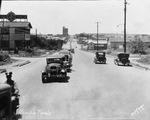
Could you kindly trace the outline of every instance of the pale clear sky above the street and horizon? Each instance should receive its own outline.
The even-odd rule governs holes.
[[[127,33],[150,34],[150,0],[127,0]],[[28,15],[32,25],[41,34],[122,33],[124,0],[96,1],[2,1],[0,14],[8,12]]]

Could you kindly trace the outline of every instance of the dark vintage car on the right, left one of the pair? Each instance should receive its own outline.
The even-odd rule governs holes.
[[[96,52],[94,57],[94,63],[104,63],[106,64],[105,52]]]

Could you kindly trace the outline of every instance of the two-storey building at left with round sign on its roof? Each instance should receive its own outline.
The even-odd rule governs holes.
[[[0,49],[25,49],[30,46],[31,23],[27,15],[9,12],[0,15]]]

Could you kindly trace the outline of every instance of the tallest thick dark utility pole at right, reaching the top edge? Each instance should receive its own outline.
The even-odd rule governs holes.
[[[124,53],[126,53],[126,11],[127,11],[127,2],[124,0]]]

